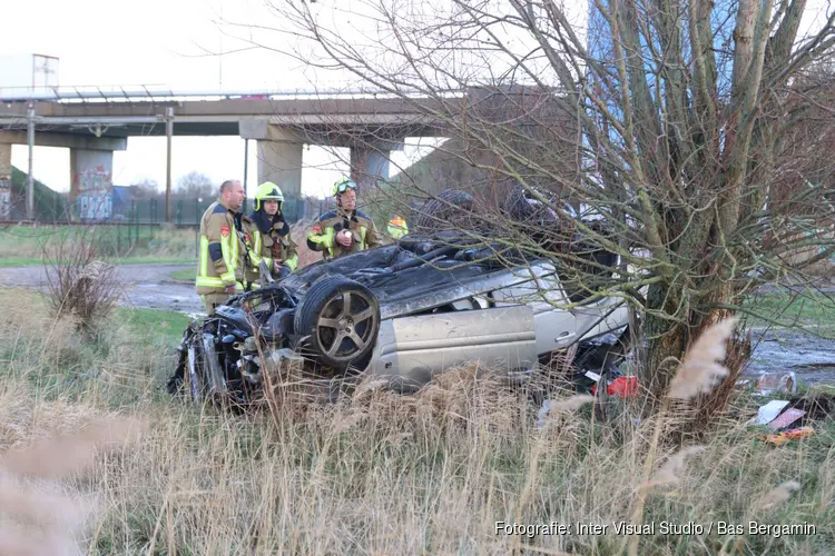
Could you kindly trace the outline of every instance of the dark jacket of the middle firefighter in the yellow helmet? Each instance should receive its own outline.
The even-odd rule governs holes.
[[[263,211],[255,211],[248,217],[242,218],[244,241],[248,251],[249,260],[244,260],[245,287],[250,289],[261,286],[261,270],[258,265],[263,260],[272,270],[273,261],[286,265],[291,271],[298,267],[298,254],[296,244],[289,236],[289,225],[277,215],[271,218]]]

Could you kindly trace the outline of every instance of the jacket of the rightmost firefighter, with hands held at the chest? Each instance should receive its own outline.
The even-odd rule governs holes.
[[[350,229],[354,241],[345,249],[336,241],[336,234]],[[342,209],[328,210],[314,222],[307,235],[307,247],[314,251],[323,251],[325,258],[335,259],[343,255],[373,249],[383,245],[380,240],[374,221],[364,212],[354,210],[348,214]]]

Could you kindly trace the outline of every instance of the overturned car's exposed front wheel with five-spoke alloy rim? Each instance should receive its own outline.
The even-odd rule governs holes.
[[[305,294],[293,326],[310,337],[310,348],[323,365],[346,369],[374,348],[380,304],[362,284],[341,276],[323,278]]]

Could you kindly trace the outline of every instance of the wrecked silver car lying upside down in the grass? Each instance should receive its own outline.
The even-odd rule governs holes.
[[[464,361],[519,383],[574,345],[577,377],[591,387],[583,375],[619,374],[627,324],[621,299],[571,291],[547,258],[454,232],[406,236],[302,268],[194,321],[168,389],[246,406],[287,360],[312,379],[373,376],[403,393]]]

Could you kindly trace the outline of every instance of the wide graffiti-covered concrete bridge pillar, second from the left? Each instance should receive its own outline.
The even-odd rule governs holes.
[[[70,207],[80,220],[110,218],[114,151],[70,149]]]

